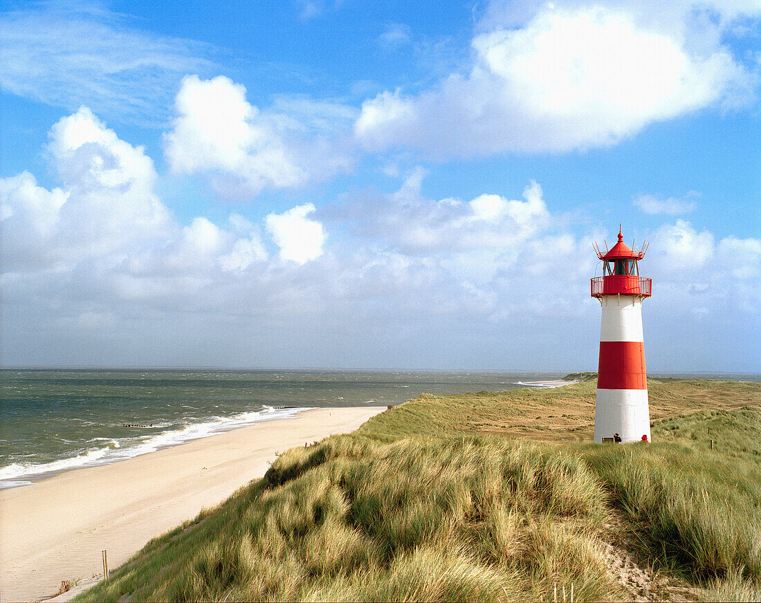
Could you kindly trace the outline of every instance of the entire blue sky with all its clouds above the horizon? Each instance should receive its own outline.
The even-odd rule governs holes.
[[[0,3],[5,367],[761,372],[761,0]]]

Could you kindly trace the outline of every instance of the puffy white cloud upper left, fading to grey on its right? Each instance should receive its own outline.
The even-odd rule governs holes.
[[[177,173],[207,173],[229,195],[300,186],[351,164],[324,137],[298,138],[304,126],[292,116],[261,113],[246,100],[246,88],[223,75],[211,80],[186,76],[175,106],[174,127],[164,135],[170,167]],[[324,127],[326,103],[320,109],[313,116],[321,113]]]

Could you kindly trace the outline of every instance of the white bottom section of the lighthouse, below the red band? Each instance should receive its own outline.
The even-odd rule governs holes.
[[[594,441],[621,436],[624,442],[650,440],[650,409],[647,389],[598,389],[594,405]]]

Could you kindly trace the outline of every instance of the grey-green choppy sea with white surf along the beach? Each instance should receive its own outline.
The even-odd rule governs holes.
[[[503,391],[556,373],[0,370],[0,488],[103,465],[304,408]]]

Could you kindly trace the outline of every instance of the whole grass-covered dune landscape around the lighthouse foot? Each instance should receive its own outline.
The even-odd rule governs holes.
[[[649,446],[591,443],[594,382],[422,395],[285,452],[78,600],[758,600],[761,384],[649,386]]]

